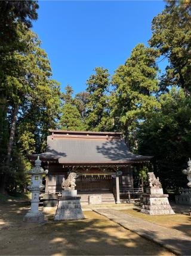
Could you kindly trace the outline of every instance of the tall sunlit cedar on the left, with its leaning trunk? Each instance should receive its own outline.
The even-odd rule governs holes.
[[[60,104],[60,87],[51,80],[50,62],[39,47],[37,35],[20,22],[17,23],[17,35],[26,47],[6,55],[11,60],[10,73],[1,76],[0,84],[6,95],[4,123],[10,134],[7,149],[3,149],[4,154],[1,154],[2,192],[5,191],[7,177],[17,170],[13,149],[18,152],[23,148],[27,152],[32,146],[33,151],[39,152],[48,128],[54,125]],[[6,134],[7,131],[2,131],[4,140]],[[20,144],[22,141],[23,145]],[[27,144],[26,148],[24,144]]]

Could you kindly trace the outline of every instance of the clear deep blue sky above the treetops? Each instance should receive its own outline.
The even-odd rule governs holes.
[[[85,90],[95,67],[113,74],[136,44],[147,44],[152,19],[164,6],[163,1],[39,1],[33,30],[53,78],[77,93]]]

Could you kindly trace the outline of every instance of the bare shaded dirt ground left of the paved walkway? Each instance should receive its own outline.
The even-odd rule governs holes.
[[[24,224],[27,207],[0,204],[1,255],[173,255],[94,212],[82,221]]]

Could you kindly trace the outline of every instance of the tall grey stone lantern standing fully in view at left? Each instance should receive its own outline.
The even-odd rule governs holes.
[[[48,170],[41,167],[41,160],[38,158],[35,161],[35,167],[33,167],[29,174],[31,174],[31,183],[27,188],[32,192],[31,209],[24,216],[24,222],[41,222],[44,221],[44,213],[38,210],[39,205],[39,192],[44,189],[42,184],[42,174],[47,174]]]

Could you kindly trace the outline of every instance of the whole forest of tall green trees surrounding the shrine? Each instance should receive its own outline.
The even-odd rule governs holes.
[[[64,92],[32,31],[37,1],[0,2],[0,189],[24,191],[27,153],[46,149],[48,129],[122,131],[131,151],[153,155],[166,189],[186,186],[191,156],[191,2],[167,1],[113,76],[96,67],[87,89]],[[168,60],[165,72],[158,63]],[[140,175],[143,170],[140,170]]]

